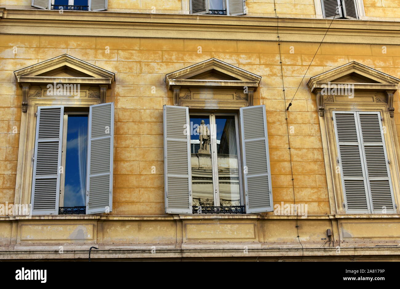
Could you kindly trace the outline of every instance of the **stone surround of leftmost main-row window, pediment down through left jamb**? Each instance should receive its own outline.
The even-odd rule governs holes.
[[[66,67],[82,73],[75,76],[42,76],[59,74]],[[62,105],[64,107],[89,107],[106,102],[106,95],[115,81],[115,74],[92,64],[64,54],[38,64],[16,70],[17,84],[22,87],[22,115],[17,161],[15,204],[30,204],[32,193],[32,157],[35,147],[36,113],[38,106]],[[87,77],[90,76],[90,77]],[[78,98],[48,96],[47,85],[54,82],[79,84]]]

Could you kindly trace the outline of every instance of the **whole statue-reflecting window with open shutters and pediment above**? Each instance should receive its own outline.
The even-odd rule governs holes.
[[[266,108],[249,106],[260,79],[216,59],[167,74],[167,213],[272,211]]]

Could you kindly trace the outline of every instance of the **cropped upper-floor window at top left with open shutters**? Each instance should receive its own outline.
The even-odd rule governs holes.
[[[102,11],[107,4],[107,0],[32,0],[33,7],[54,10]]]

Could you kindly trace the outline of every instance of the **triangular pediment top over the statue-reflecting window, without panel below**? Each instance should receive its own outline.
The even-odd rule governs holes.
[[[168,88],[172,86],[248,86],[256,89],[260,80],[261,76],[216,58],[166,75]]]

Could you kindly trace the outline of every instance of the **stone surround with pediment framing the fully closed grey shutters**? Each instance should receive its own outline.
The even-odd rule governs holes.
[[[335,82],[336,79],[344,79],[346,76],[357,73],[363,76],[364,81],[368,82]],[[324,95],[322,89],[324,85],[332,84],[352,84],[354,85],[354,97],[349,98],[346,95]],[[316,96],[317,108],[319,114],[322,148],[324,153],[326,180],[328,185],[328,195],[330,201],[330,210],[332,214],[356,215],[348,213],[344,207],[344,188],[340,173],[336,173],[338,147],[336,144],[336,135],[333,121],[333,111],[362,111],[362,112],[380,112],[382,116],[382,126],[386,127],[384,140],[388,158],[390,159],[390,175],[393,186],[395,211],[399,212],[400,202],[400,145],[397,137],[396,124],[394,121],[393,97],[398,89],[400,80],[384,74],[378,70],[350,62],[338,68],[334,68],[317,76],[310,78],[308,87]],[[364,215],[382,215],[388,214],[360,214]]]

